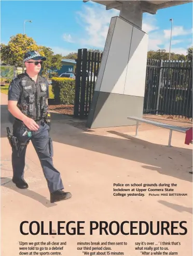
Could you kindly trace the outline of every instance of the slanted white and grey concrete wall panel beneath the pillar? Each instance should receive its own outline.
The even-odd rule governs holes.
[[[109,25],[87,127],[134,124],[143,115],[148,35],[120,17]]]

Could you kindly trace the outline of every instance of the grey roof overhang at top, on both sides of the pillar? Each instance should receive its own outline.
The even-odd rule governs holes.
[[[139,2],[138,0],[134,0]],[[131,2],[133,4],[134,1],[127,1],[127,2]],[[89,0],[84,0],[84,3],[89,2]],[[106,10],[109,9],[117,9],[117,10],[121,10],[122,4],[125,1],[92,1],[101,5],[105,5],[106,6]],[[176,6],[176,5],[182,5],[182,4],[187,4],[187,3],[192,3],[192,1],[189,0],[185,0],[185,1],[140,1],[141,2],[141,8],[143,10],[143,12],[148,12],[149,14],[156,14],[157,10],[159,9],[163,9],[163,8],[168,8],[168,7],[172,7],[172,6]]]

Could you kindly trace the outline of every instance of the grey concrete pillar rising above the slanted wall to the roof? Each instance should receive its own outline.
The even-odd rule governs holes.
[[[143,10],[141,1],[123,1],[119,17],[142,29]]]

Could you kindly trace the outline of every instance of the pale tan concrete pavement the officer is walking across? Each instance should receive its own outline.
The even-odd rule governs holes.
[[[168,252],[175,255],[192,255],[192,145],[185,145],[185,134],[173,132],[172,145],[167,147],[169,131],[148,125],[140,127],[139,138],[134,138],[134,128],[118,127],[95,129],[86,131],[77,128],[78,120],[62,114],[52,114],[50,136],[54,147],[54,166],[60,170],[65,191],[72,193],[70,200],[57,204],[50,204],[49,191],[44,178],[39,159],[32,143],[27,147],[25,180],[29,189],[19,190],[12,183],[11,147],[6,138],[6,127],[11,127],[12,118],[7,111],[7,96],[1,93],[1,255],[17,256],[21,242],[66,242],[63,250],[22,250],[22,252],[36,251],[38,255],[51,255],[46,252],[60,252],[52,255],[91,255],[84,254],[84,246],[77,242],[126,242],[127,245],[108,245],[107,251],[123,252],[125,256],[143,255],[141,250],[135,250],[135,242],[159,241],[181,242],[181,246],[168,246]],[[190,125],[190,124],[189,124]],[[114,186],[118,184],[159,184],[175,183],[174,192],[141,192],[145,196],[114,196]],[[150,188],[166,188],[150,187]],[[125,187],[130,188],[131,186]],[[136,188],[136,187],[134,187]],[[143,187],[140,187],[143,188]],[[168,187],[167,187],[168,188]],[[171,186],[169,188],[172,188]],[[128,193],[128,192],[127,192]],[[139,192],[134,192],[139,193]],[[159,196],[149,196],[155,193]],[[184,193],[188,196],[161,196],[160,193]],[[85,235],[22,235],[20,223],[22,221],[44,221],[44,232],[49,233],[49,221],[52,221],[52,233],[58,232],[58,221],[75,221],[72,227],[77,227],[77,221],[85,221]],[[100,235],[99,230],[90,235],[90,221],[153,221],[156,230],[157,221],[186,221],[187,235]],[[61,226],[65,227],[65,223]],[[137,226],[135,223],[134,226]],[[178,224],[174,232],[182,232]],[[33,232],[37,229],[33,225]],[[115,232],[115,225],[113,232]],[[107,228],[107,231],[108,228]],[[139,231],[139,228],[134,232]],[[169,228],[171,232],[171,228]],[[24,232],[29,232],[29,225],[24,225]],[[66,233],[66,228],[61,232]],[[129,224],[125,225],[125,232],[129,232]],[[40,246],[37,246],[38,248]],[[41,246],[41,247],[45,247]],[[77,250],[82,247],[82,250]],[[87,246],[90,247],[90,246]],[[95,246],[97,247],[97,246]],[[99,246],[101,247],[101,245]],[[141,245],[142,247],[142,245]],[[167,246],[164,246],[167,247]],[[143,248],[144,249],[144,248]],[[94,250],[96,252],[99,249]],[[143,250],[150,252],[150,250]],[[34,254],[31,254],[34,255]],[[35,254],[37,255],[37,254]],[[98,254],[100,255],[100,254]],[[102,254],[101,254],[102,255]],[[112,254],[113,255],[113,254]],[[114,254],[116,255],[116,254]],[[151,254],[144,254],[151,255]],[[162,254],[163,255],[163,254]],[[168,254],[169,255],[169,254]],[[174,255],[174,254],[171,254]]]

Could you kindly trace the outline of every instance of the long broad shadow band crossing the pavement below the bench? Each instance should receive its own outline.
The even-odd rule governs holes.
[[[3,129],[3,131],[1,129],[1,136],[5,136],[8,121],[7,105],[2,106],[2,112],[5,116],[3,116],[1,120]],[[1,113],[1,115],[3,113]],[[59,113],[52,113],[50,137],[53,141],[142,163],[144,174],[145,169],[151,169],[158,171],[163,175],[192,182],[192,175],[188,172],[192,165],[191,147],[190,149],[184,149],[181,147],[167,147],[154,144],[128,136],[124,133],[110,130],[112,128],[109,128],[107,131],[120,138],[100,136],[93,134],[92,132],[86,133],[81,129],[73,127],[73,124],[71,123],[73,118],[69,118],[70,117]],[[173,158],[175,159],[171,157],[172,154],[174,154]],[[176,161],[179,162],[180,158],[183,159],[186,166],[183,166],[180,163],[176,164]]]

